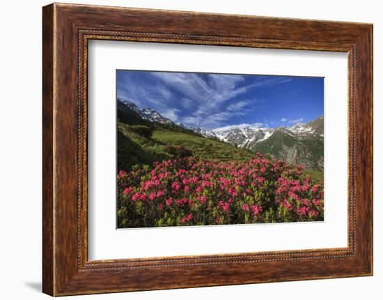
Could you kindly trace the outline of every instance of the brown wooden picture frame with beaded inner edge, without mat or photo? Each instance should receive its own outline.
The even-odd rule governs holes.
[[[373,25],[54,3],[42,10],[42,290],[52,296],[373,274]],[[88,41],[348,54],[348,246],[88,260]]]

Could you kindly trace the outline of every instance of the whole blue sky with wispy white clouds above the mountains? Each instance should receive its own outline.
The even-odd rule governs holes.
[[[306,123],[323,114],[322,77],[117,70],[117,97],[175,123],[215,129]]]

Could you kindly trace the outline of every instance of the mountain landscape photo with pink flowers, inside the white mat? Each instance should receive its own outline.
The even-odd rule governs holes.
[[[116,71],[117,228],[323,221],[324,78]]]

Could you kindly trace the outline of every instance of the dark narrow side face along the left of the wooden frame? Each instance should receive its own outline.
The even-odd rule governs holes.
[[[54,296],[54,4],[42,8],[42,292]]]

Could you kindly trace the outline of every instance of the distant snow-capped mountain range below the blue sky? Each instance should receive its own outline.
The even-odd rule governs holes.
[[[178,125],[154,109],[139,109],[133,102],[118,101],[118,109],[143,120],[168,125]],[[239,148],[261,152],[276,159],[285,159],[290,164],[303,164],[307,168],[323,170],[324,125],[323,116],[309,123],[295,123],[290,127],[258,127],[233,125],[212,130],[189,127],[207,138],[219,139]]]

